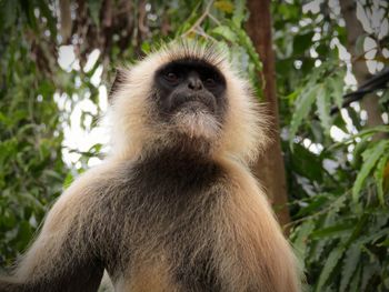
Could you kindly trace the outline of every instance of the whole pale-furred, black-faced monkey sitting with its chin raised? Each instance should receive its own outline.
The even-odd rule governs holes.
[[[123,69],[111,150],[49,211],[0,291],[297,292],[299,264],[249,165],[267,119],[216,44],[173,42]]]

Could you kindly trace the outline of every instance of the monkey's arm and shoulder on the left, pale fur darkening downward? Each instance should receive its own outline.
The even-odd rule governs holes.
[[[90,171],[61,195],[13,274],[0,278],[1,292],[98,290],[103,259],[96,240],[101,226],[92,215],[96,194],[91,185],[101,175],[101,170]]]

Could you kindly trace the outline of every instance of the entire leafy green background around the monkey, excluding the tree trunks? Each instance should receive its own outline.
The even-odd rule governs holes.
[[[365,98],[375,117],[358,101],[340,110],[358,63],[370,73],[388,66],[389,4],[355,2],[363,30],[351,44],[338,1],[271,2],[288,226],[309,291],[389,291],[389,92]],[[99,163],[116,67],[163,41],[216,40],[261,99],[249,13],[259,11],[238,0],[0,1],[3,269],[73,177]]]

